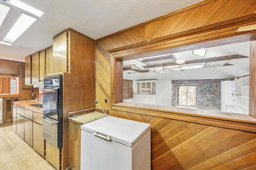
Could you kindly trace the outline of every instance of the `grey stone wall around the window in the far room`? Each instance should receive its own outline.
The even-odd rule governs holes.
[[[221,111],[221,81],[228,79],[207,80],[172,80],[172,106],[178,106],[179,86],[196,86],[196,108]]]

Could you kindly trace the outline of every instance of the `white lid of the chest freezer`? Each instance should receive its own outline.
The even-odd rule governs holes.
[[[150,124],[106,116],[81,125],[81,129],[94,134],[99,133],[103,136],[107,135],[110,137],[111,141],[133,147],[150,129]]]

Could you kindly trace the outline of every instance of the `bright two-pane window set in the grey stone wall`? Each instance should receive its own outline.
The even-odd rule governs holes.
[[[178,105],[196,107],[196,86],[179,86]]]

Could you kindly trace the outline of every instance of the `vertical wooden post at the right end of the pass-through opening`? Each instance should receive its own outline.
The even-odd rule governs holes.
[[[250,46],[249,115],[256,118],[256,38]]]

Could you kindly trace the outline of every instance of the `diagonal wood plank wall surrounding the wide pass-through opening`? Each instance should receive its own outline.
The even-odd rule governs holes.
[[[224,35],[224,33],[233,33],[230,36],[244,34],[244,32],[237,34],[234,31],[239,26],[255,23],[255,16],[252,13],[254,12],[253,10],[255,9],[256,4],[250,0],[246,0],[244,1],[244,8],[247,8],[247,10],[244,10],[238,7],[238,4],[241,2],[243,1],[230,0],[230,2],[228,2],[224,0],[207,0],[200,6],[195,5],[186,8],[187,10],[193,11],[183,10],[181,12],[174,12],[174,14],[169,14],[168,17],[165,16],[159,20],[156,19],[151,23],[140,24],[139,26],[127,29],[124,32],[121,31],[112,36],[100,39],[96,45],[96,98],[100,101],[104,101],[105,98],[110,101],[110,99],[112,100],[114,97],[112,94],[114,93],[113,89],[116,88],[115,81],[113,80],[115,76],[115,67],[113,67],[115,63],[114,57],[123,57],[125,55],[129,56],[134,54],[138,55],[145,49],[150,52],[160,49],[161,47],[164,47],[164,43],[167,41],[167,39],[162,42],[159,41],[161,38],[166,38],[164,36],[170,36],[172,37],[172,40],[174,40],[168,43],[182,46],[191,42],[192,39],[197,39],[198,42],[200,38],[208,41],[207,39],[210,39],[212,35],[216,35],[220,38],[222,35],[225,37],[227,36]],[[250,4],[250,7],[246,4]],[[236,8],[237,10],[235,10]],[[229,10],[234,10],[235,12],[230,15],[228,12]],[[191,16],[188,16],[187,18],[187,16],[184,17],[185,14],[191,14]],[[234,15],[236,16],[234,17]],[[238,17],[241,18],[237,20],[234,19]],[[182,27],[180,27],[181,25],[177,26],[176,24],[179,23],[177,18],[184,19],[184,21],[186,20],[186,24],[183,24]],[[220,21],[222,21],[222,23],[220,23]],[[174,29],[175,27],[176,29]],[[210,27],[212,27],[212,30]],[[141,30],[140,33],[137,32],[138,37],[136,32],[128,32],[135,28]],[[178,30],[178,32],[172,34],[173,30]],[[212,31],[211,33],[209,32],[210,30]],[[180,31],[187,34],[182,34]],[[139,37],[143,34],[144,40]],[[183,35],[184,37],[182,37]],[[151,40],[148,41],[148,43],[152,43],[152,46],[146,47],[144,42],[149,38],[151,38]],[[232,39],[236,42],[239,41],[238,37]],[[250,37],[248,37],[248,39],[250,39]],[[155,43],[157,41],[159,44]],[[172,48],[174,49],[177,46],[172,46]],[[194,44],[191,45],[191,47],[192,46],[195,47]],[[117,49],[116,51],[123,48],[125,53],[115,55],[109,50],[113,49],[114,51],[115,48]],[[138,48],[138,50],[136,51],[134,48]],[[126,58],[123,57],[122,59],[125,60]],[[110,69],[112,71],[110,71]],[[111,86],[109,85],[110,81],[112,84]],[[142,109],[137,110],[134,108],[118,110],[116,109],[116,106],[111,106],[114,102],[115,100],[112,100],[111,103],[109,102],[102,106],[104,109],[108,108],[110,110],[110,115],[151,124],[151,167],[153,170],[170,168],[187,169],[189,167],[194,169],[196,169],[196,167],[198,167],[197,169],[211,169],[220,166],[220,164],[232,164],[232,162],[235,162],[236,160],[243,160],[244,156],[255,152],[254,136],[256,133],[243,131],[246,130],[245,127],[242,128],[243,130],[228,129],[228,126],[217,127],[218,123],[224,123],[223,121],[215,121],[216,125],[214,126],[202,125],[204,124],[203,121],[201,123],[198,121],[191,123],[188,119],[182,119],[182,117],[184,118],[186,115],[181,116],[180,121],[178,121],[173,120],[170,116],[163,118],[164,115],[159,111],[154,112],[150,109],[145,109],[143,111]],[[153,112],[155,114],[153,114]],[[176,114],[170,115],[173,116]],[[197,118],[195,118],[195,120],[196,119]],[[174,125],[174,127],[172,125]],[[248,157],[248,159],[250,158]],[[233,166],[232,169],[239,168],[241,164],[234,165],[235,166]]]

